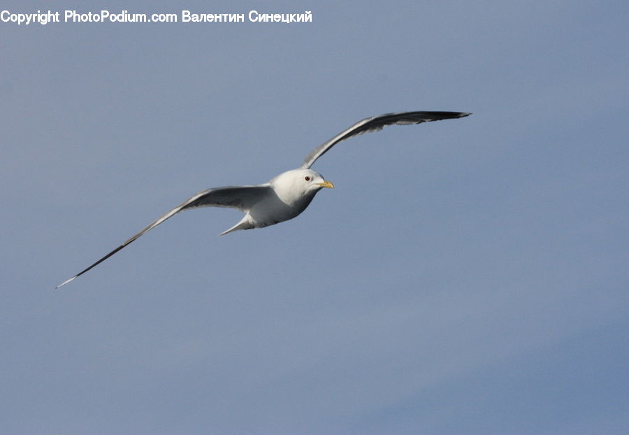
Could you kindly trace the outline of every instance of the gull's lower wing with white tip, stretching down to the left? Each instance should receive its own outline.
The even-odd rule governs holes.
[[[228,187],[218,187],[216,189],[208,189],[203,190],[203,192],[198,192],[198,194],[194,195],[189,199],[183,201],[180,205],[173,208],[173,210],[169,211],[165,215],[159,217],[157,220],[147,225],[143,229],[138,232],[138,234],[129,238],[129,240],[122,243],[122,245],[115,248],[115,250],[109,252],[105,257],[99,259],[96,263],[89,266],[87,269],[80,271],[72,278],[65,280],[63,283],[57,285],[55,288],[59,288],[62,285],[66,285],[71,280],[78,278],[83,273],[92,269],[92,267],[104,262],[106,259],[114,255],[116,252],[124,248],[126,245],[129,245],[132,241],[136,240],[136,238],[145,234],[145,232],[157,227],[157,225],[164,222],[164,220],[168,219],[182,210],[186,210],[187,208],[196,208],[196,207],[229,207],[229,208],[238,208],[240,211],[248,211],[254,204],[256,204],[261,197],[268,193],[270,187],[268,185],[257,185],[257,186],[228,186]]]

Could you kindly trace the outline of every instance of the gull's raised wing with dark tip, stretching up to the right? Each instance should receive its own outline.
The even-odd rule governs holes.
[[[321,143],[317,148],[312,150],[309,155],[303,160],[302,168],[308,169],[315,161],[324,155],[330,148],[339,143],[345,141],[357,134],[368,133],[369,131],[382,130],[383,127],[392,124],[407,125],[407,124],[421,124],[421,122],[449,120],[457,117],[464,117],[471,115],[471,113],[464,112],[399,112],[399,113],[385,113],[384,115],[378,115],[368,117],[362,121],[356,122],[356,124],[349,127],[345,131],[341,131],[339,134],[331,138],[329,141]]]

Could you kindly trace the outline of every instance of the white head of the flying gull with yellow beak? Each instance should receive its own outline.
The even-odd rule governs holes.
[[[332,189],[334,185],[324,180],[320,173],[312,169],[292,169],[280,173],[270,180],[270,186],[286,204],[292,205],[302,200],[312,200],[324,187]]]

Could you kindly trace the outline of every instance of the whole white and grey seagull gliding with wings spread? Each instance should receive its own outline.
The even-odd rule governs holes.
[[[471,113],[398,112],[368,117],[362,121],[356,122],[352,127],[341,131],[329,141],[321,143],[321,145],[312,150],[312,152],[303,159],[303,163],[300,167],[280,173],[280,175],[271,178],[268,183],[216,187],[198,192],[198,194],[186,199],[180,205],[141,229],[138,234],[129,238],[122,243],[122,245],[115,248],[115,250],[99,259],[99,261],[87,267],[87,269],[80,271],[72,278],[68,278],[55,288],[59,288],[75,280],[83,273],[89,271],[89,269],[101,264],[101,262],[104,262],[126,245],[135,241],[136,238],[139,238],[147,231],[157,227],[161,222],[189,208],[229,207],[236,208],[245,213],[243,218],[236,225],[223,231],[220,234],[221,236],[233,231],[238,231],[239,229],[263,228],[284,222],[284,220],[292,219],[308,207],[310,201],[315,198],[315,194],[317,194],[319,190],[324,187],[330,189],[334,187],[330,181],[324,180],[321,174],[312,171],[310,167],[319,157],[328,152],[337,143],[359,134],[382,130],[382,128],[387,125],[421,124],[421,122],[449,120],[468,115],[471,115]]]

